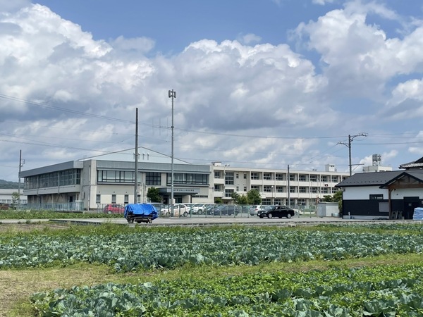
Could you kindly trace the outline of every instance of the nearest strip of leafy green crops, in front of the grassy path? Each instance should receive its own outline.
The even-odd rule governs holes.
[[[422,316],[423,264],[104,284],[33,294],[40,316]]]

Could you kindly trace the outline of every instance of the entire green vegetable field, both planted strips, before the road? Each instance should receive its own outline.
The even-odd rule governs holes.
[[[35,292],[27,316],[423,316],[415,224],[102,225],[0,238],[1,271],[84,263],[126,281]]]

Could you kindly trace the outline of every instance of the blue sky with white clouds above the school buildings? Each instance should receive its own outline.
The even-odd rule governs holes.
[[[171,156],[171,89],[176,159],[398,170],[423,156],[423,4],[0,0],[0,179],[133,149],[137,109]]]

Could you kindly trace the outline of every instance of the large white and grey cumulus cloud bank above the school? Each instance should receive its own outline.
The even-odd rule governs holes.
[[[0,0],[0,11],[8,11],[0,15],[0,120],[8,137],[0,151],[13,161],[25,144],[25,168],[49,163],[40,157],[70,160],[133,147],[135,108],[141,145],[168,153],[168,89],[178,92],[176,154],[194,163],[337,163],[345,157],[319,156],[329,142],[312,137],[360,132],[369,120],[423,116],[421,78],[397,80],[422,72],[423,28],[415,23],[403,37],[388,37],[368,23],[369,13],[400,17],[378,2],[347,2],[298,25],[293,35],[317,52],[319,64],[307,51],[262,44],[254,34],[201,39],[162,56],[154,39],[95,40],[45,6],[13,3]],[[352,98],[383,110],[350,106]]]

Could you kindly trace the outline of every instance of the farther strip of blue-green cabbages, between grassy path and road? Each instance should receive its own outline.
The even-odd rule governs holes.
[[[18,235],[0,242],[0,268],[104,263],[116,271],[175,268],[187,263],[257,265],[421,253],[423,235],[232,228],[147,230],[116,235]]]

